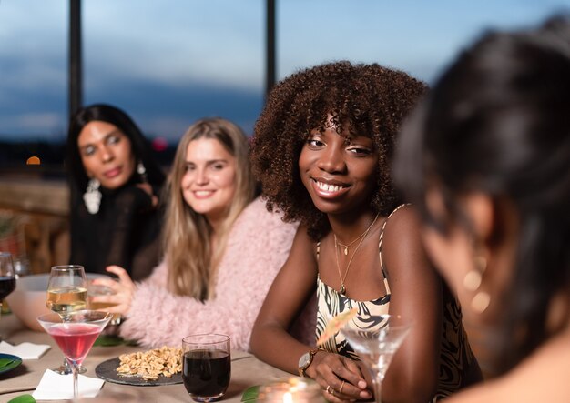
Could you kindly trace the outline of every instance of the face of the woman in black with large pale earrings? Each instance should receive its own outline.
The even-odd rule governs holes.
[[[87,176],[101,186],[117,189],[135,172],[135,156],[130,139],[117,126],[94,120],[77,137],[79,155]]]

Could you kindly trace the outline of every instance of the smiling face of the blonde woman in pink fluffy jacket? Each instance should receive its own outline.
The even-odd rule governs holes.
[[[182,195],[190,207],[210,224],[223,220],[236,192],[236,160],[214,138],[198,138],[188,144]]]

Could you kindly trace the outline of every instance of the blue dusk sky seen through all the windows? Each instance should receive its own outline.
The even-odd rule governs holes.
[[[277,0],[278,76],[377,62],[428,83],[490,28],[535,25],[570,0]],[[0,0],[0,140],[61,141],[67,0]],[[107,102],[176,143],[203,116],[248,133],[264,95],[264,0],[84,0],[84,104]]]

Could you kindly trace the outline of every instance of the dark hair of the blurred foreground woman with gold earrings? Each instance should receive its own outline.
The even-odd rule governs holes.
[[[451,65],[402,133],[395,176],[426,219],[437,184],[448,218],[458,197],[508,200],[520,222],[506,333],[525,329],[513,362],[545,338],[546,311],[570,283],[570,25],[484,35]],[[504,205],[503,205],[504,206]],[[511,339],[513,343],[513,339]],[[508,349],[507,349],[508,350]]]

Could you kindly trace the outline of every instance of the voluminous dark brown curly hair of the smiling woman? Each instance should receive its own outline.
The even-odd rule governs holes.
[[[317,65],[280,81],[270,91],[252,139],[252,168],[268,209],[282,211],[286,221],[299,220],[315,240],[330,230],[300,180],[298,163],[310,131],[324,131],[331,115],[339,133],[372,138],[379,162],[371,207],[389,214],[400,202],[389,166],[394,138],[426,88],[401,71],[348,61]]]

